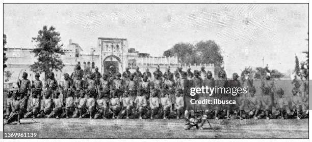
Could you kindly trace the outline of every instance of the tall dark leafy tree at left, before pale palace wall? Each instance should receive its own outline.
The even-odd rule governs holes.
[[[31,65],[33,72],[49,73],[53,69],[61,70],[64,67],[61,55],[64,52],[61,51],[63,44],[61,42],[60,33],[55,31],[55,27],[51,26],[49,29],[47,26],[43,26],[43,29],[38,31],[36,38],[32,38],[32,42],[36,42],[36,48],[32,51],[35,53],[34,57],[38,57],[38,61]]]

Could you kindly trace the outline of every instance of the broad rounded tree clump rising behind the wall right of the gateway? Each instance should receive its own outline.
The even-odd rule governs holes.
[[[215,75],[221,69],[223,63],[223,50],[215,41],[200,41],[195,44],[178,43],[164,52],[164,56],[176,56],[181,63],[215,65]]]

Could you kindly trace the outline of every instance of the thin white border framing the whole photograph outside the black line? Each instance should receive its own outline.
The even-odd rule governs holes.
[[[168,1],[168,0],[159,0],[159,1],[143,1],[143,0],[132,0],[132,1],[96,1],[96,0],[89,0],[89,1],[83,1],[83,0],[44,0],[44,1],[40,1],[40,0],[22,0],[22,1],[17,1],[17,0],[3,0],[2,3],[309,3],[309,1],[290,1],[290,0],[275,0],[275,1],[270,1],[270,0],[265,0],[265,1],[246,1],[246,0],[240,0],[240,1],[225,1],[225,0],[213,0],[213,1],[203,1],[203,0],[192,0],[192,1],[185,1],[185,0],[179,0],[179,1]],[[309,8],[309,13],[311,8]],[[1,27],[1,31],[3,33],[3,5],[0,8],[1,11],[1,22],[0,22],[0,27]],[[309,19],[312,19],[311,16],[309,15]],[[309,20],[309,27],[311,26],[311,22]],[[309,33],[310,30],[309,30]],[[3,47],[3,42],[0,42],[2,47]],[[3,62],[3,50],[0,54],[1,58],[0,60]],[[309,52],[309,56],[310,56],[310,52]],[[0,65],[0,70],[2,72],[3,75],[3,66]],[[309,76],[311,77],[311,72],[309,73]],[[0,76],[0,82],[1,84],[3,84],[3,76]],[[3,92],[3,87],[0,87],[0,92]],[[0,100],[3,100],[3,95],[0,95]],[[310,102],[312,103],[312,102]],[[0,101],[0,106],[3,106],[3,101]],[[3,112],[3,107],[0,107],[1,112]],[[309,121],[311,119],[311,112],[309,111]],[[0,113],[0,118],[3,118],[3,113]],[[310,128],[312,128],[312,122],[309,122],[309,130]],[[3,121],[0,122],[0,131],[3,131]],[[311,138],[312,135],[310,135],[309,132],[309,138]],[[3,139],[1,139],[2,141]],[[24,139],[23,139],[24,140]],[[26,140],[26,139],[25,139]],[[27,141],[55,141],[55,139],[27,139]],[[68,141],[68,142],[75,142],[75,141],[146,141],[147,139],[58,139],[58,141]],[[279,142],[279,141],[309,141],[308,139],[149,139],[152,141],[275,141],[275,142]],[[21,139],[4,139],[4,141],[21,141]]]

